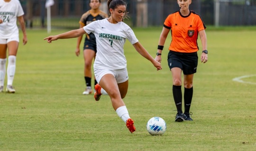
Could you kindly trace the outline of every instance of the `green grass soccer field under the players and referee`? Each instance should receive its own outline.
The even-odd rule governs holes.
[[[134,29],[154,58],[161,31]],[[46,30],[27,30],[28,43],[18,51],[17,92],[0,93],[0,151],[255,151],[256,28],[206,32],[209,61],[199,63],[194,76],[192,122],[174,122],[166,60],[170,35],[160,71],[126,42],[129,90],[124,101],[137,128],[130,134],[109,96],[96,102],[93,95],[82,95],[83,57],[75,56],[76,39],[48,44]],[[249,83],[232,80],[248,75],[241,80]],[[146,131],[147,120],[155,116],[167,124],[163,136]]]

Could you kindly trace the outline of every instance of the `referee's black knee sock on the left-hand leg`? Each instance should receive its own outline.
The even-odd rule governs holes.
[[[177,112],[182,112],[182,90],[181,85],[173,85],[174,102]]]

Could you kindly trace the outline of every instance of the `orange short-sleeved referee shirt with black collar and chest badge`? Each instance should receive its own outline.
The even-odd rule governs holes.
[[[206,29],[201,17],[190,10],[188,16],[182,16],[180,11],[170,14],[164,27],[171,29],[172,42],[169,50],[191,53],[199,50],[197,45],[198,32]]]

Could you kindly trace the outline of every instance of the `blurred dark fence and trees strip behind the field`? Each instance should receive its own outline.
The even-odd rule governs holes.
[[[165,18],[177,11],[177,0],[124,0],[131,27],[162,26]],[[46,0],[20,0],[27,28],[45,28]],[[54,0],[51,6],[52,28],[79,28],[79,19],[90,9],[90,0]],[[256,25],[256,0],[192,0],[190,9],[201,15],[206,25]],[[101,0],[101,10],[108,13],[107,0]]]

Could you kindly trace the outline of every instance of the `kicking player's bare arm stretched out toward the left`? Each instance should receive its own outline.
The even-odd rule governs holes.
[[[76,30],[72,30],[66,33],[62,33],[62,34],[58,34],[58,35],[54,35],[54,36],[49,36],[44,38],[44,40],[47,39],[48,43],[52,43],[52,41],[58,40],[58,39],[68,39],[68,38],[76,38],[79,36],[82,36],[83,34],[85,34],[86,32],[84,31],[83,28],[80,29],[76,29]]]

